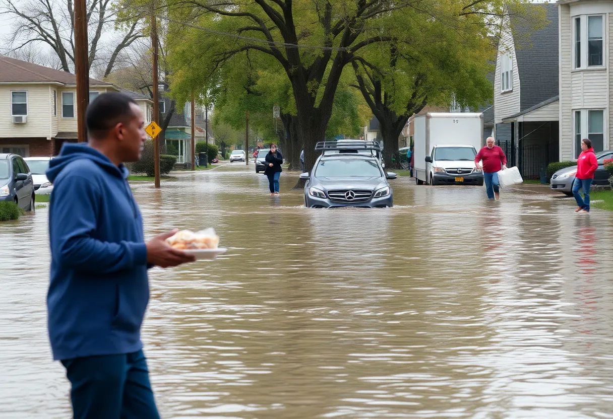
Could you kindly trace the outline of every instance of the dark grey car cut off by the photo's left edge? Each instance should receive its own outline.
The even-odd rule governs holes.
[[[34,211],[32,174],[17,154],[0,154],[0,201],[12,201],[26,211]]]

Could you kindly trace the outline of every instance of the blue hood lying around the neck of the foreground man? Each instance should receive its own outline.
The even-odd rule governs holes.
[[[109,157],[97,151],[97,149],[91,148],[87,143],[74,144],[64,143],[59,156],[55,159],[51,159],[49,162],[49,168],[47,169],[47,178],[51,183],[55,181],[59,173],[66,168],[70,163],[80,160],[88,159],[99,165],[106,172],[109,172],[113,176],[118,178],[128,178],[128,169],[122,164],[119,167],[113,164]]]

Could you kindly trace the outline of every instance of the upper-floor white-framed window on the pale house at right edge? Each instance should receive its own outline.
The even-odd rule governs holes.
[[[573,19],[574,68],[604,66],[604,16],[584,15]]]

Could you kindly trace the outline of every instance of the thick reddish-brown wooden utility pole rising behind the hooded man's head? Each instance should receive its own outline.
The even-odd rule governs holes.
[[[87,141],[85,111],[89,104],[89,59],[86,0],[75,0],[75,77],[77,78],[77,138]]]

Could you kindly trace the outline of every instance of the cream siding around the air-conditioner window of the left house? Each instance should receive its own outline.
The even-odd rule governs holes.
[[[28,120],[13,124],[11,91],[28,92]],[[32,138],[49,136],[49,86],[0,85],[0,137]]]

